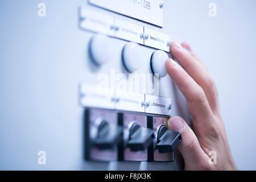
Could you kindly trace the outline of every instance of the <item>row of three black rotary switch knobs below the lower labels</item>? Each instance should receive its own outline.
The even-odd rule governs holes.
[[[102,121],[99,126],[97,137],[93,140],[94,146],[101,150],[112,149],[122,140],[122,127],[111,126],[108,121]],[[168,130],[165,125],[161,125],[156,135],[156,146],[159,153],[173,152],[181,142],[181,134]],[[125,146],[131,151],[146,150],[154,142],[154,130],[140,126],[133,121],[129,126],[129,138],[125,141]]]

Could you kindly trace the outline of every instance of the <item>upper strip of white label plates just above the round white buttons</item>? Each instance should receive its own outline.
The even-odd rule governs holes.
[[[170,35],[86,7],[80,7],[79,9],[79,26],[81,30],[105,34],[113,38],[169,51]]]

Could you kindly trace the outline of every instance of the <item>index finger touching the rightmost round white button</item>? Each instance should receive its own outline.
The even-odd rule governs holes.
[[[192,117],[203,123],[210,121],[207,118],[213,113],[203,89],[172,59],[166,61],[166,71],[186,98]]]

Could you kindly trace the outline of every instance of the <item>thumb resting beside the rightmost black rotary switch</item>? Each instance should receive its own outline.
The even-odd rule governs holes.
[[[200,147],[199,140],[184,119],[177,116],[170,118],[168,128],[182,135],[182,142],[177,148],[184,158],[185,169],[205,169],[209,165],[209,156]]]

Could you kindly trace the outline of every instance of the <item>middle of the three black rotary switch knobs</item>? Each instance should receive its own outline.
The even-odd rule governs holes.
[[[131,151],[145,150],[148,146],[150,146],[155,137],[153,130],[146,127],[141,127],[136,122],[131,124],[129,132],[127,147],[129,147]]]

